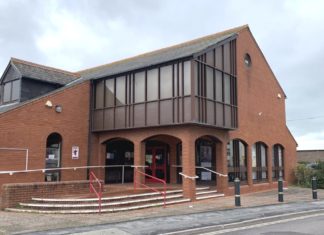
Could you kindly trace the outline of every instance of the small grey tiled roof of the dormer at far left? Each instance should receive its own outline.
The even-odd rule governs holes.
[[[22,77],[28,77],[45,82],[66,85],[80,77],[77,73],[71,73],[16,58],[11,58],[10,63],[15,66]]]

